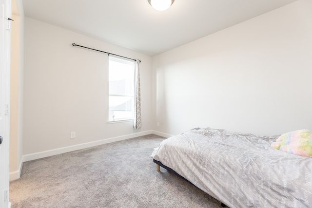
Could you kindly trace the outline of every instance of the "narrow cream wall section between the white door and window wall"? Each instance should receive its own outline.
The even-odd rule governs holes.
[[[10,180],[20,178],[23,142],[24,13],[21,0],[12,0],[10,80]]]

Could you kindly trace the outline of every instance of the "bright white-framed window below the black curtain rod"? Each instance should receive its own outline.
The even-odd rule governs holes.
[[[133,119],[134,61],[109,57],[108,121]]]

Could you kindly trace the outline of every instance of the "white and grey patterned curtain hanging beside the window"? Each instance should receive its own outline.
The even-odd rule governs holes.
[[[135,72],[135,116],[133,128],[141,128],[141,91],[140,91],[140,60],[136,61],[136,72]]]

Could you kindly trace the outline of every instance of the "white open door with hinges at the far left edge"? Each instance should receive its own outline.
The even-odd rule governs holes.
[[[9,101],[11,0],[0,0],[0,208],[9,208]],[[0,138],[1,140],[1,138]]]

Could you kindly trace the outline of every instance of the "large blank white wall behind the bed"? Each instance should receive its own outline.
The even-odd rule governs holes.
[[[298,0],[153,57],[153,129],[312,130],[311,11]]]

